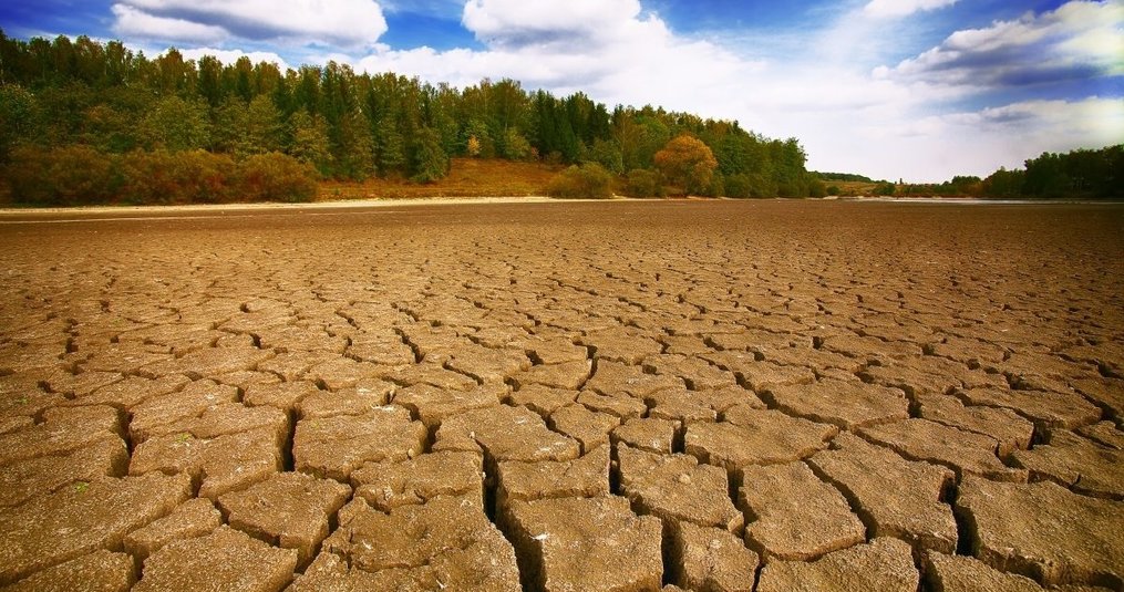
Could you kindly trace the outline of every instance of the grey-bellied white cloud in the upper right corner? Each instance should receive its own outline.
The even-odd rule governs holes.
[[[879,67],[878,78],[970,86],[1025,86],[1124,74],[1124,3],[1075,1],[1042,15],[953,33]]]

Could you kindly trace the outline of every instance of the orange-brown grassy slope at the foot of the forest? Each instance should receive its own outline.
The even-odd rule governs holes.
[[[453,158],[448,176],[435,183],[372,177],[362,183],[326,181],[320,200],[372,198],[482,198],[543,195],[563,167],[543,163]]]

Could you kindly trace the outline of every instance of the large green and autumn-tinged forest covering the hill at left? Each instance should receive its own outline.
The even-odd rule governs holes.
[[[705,144],[704,165],[713,157],[711,174],[691,177],[705,186],[661,176],[677,169],[661,165],[658,153],[683,136]],[[261,155],[273,156],[250,161]],[[513,80],[456,89],[356,74],[334,62],[281,71],[246,57],[189,61],[174,48],[149,58],[119,42],[21,40],[0,30],[0,181],[17,202],[252,199],[237,189],[251,170],[278,183],[296,181],[302,170],[312,180],[379,175],[424,183],[443,177],[453,156],[581,164],[604,169],[617,184],[655,175],[653,193],[806,197],[824,190],[805,170],[796,139],[765,138],[736,121],[653,107],[610,111],[580,92],[558,98]],[[82,170],[35,177],[67,162],[81,162]],[[211,179],[221,177],[226,189],[125,190],[140,185],[137,162],[218,169],[224,172]],[[85,172],[97,179],[82,179]],[[194,179],[181,173],[170,176]]]

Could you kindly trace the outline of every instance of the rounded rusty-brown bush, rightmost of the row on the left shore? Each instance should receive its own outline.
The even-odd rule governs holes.
[[[285,154],[257,154],[238,166],[236,192],[246,201],[311,201],[316,169]]]

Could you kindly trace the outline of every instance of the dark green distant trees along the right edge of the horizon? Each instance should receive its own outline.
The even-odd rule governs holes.
[[[1124,198],[1124,144],[1066,154],[1043,153],[1026,161],[1025,169],[999,169],[986,179],[954,176],[940,184],[879,185],[876,192],[879,191],[881,194],[908,197]]]

